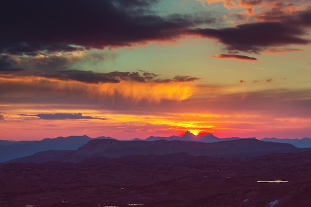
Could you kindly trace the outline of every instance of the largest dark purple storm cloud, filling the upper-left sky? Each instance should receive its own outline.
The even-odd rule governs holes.
[[[3,0],[0,53],[36,55],[130,46],[178,37],[213,18],[156,15],[157,0]]]

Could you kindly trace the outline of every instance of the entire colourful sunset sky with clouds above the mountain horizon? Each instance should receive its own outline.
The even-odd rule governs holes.
[[[311,137],[310,0],[0,4],[0,139]]]

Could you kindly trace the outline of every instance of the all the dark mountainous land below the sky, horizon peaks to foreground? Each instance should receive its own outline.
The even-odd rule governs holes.
[[[273,141],[190,132],[3,140],[0,154],[22,157],[0,163],[0,207],[310,205],[311,148]]]

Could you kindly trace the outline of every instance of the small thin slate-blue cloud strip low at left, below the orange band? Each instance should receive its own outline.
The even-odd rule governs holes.
[[[28,114],[18,114],[19,116],[30,116],[30,117],[38,117],[39,119],[45,120],[64,120],[64,119],[100,119],[100,120],[107,120],[106,118],[98,118],[98,117],[91,117],[91,116],[82,116],[81,113],[55,113],[55,114],[35,114],[35,115],[28,115]]]

